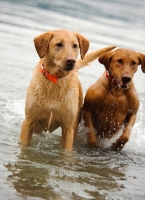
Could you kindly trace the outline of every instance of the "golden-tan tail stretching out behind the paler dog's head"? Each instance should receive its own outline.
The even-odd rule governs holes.
[[[99,49],[97,51],[93,51],[91,53],[86,54],[85,57],[83,58],[83,60],[81,58],[79,60],[77,60],[76,68],[80,69],[82,67],[89,65],[89,63],[94,61],[97,57],[99,57],[103,53],[111,51],[114,48],[116,48],[116,46],[109,46],[109,47],[105,47],[105,48]]]

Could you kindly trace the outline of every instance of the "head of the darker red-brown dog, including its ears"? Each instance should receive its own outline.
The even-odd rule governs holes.
[[[138,65],[141,64],[142,71],[145,73],[145,55],[129,49],[119,48],[104,53],[98,60],[123,89],[128,88]]]

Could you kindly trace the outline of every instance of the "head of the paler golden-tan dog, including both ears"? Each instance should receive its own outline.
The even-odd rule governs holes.
[[[54,71],[74,69],[79,50],[81,58],[89,48],[89,41],[79,33],[67,30],[48,31],[34,38],[36,51]]]

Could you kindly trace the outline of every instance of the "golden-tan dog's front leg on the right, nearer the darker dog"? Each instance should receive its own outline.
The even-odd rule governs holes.
[[[62,128],[62,147],[72,151],[74,142],[74,128]]]

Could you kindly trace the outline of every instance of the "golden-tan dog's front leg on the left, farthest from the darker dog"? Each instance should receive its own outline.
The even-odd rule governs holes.
[[[34,122],[28,119],[25,119],[23,121],[20,133],[20,141],[23,144],[28,145],[30,143],[33,134],[33,127],[34,127]]]

